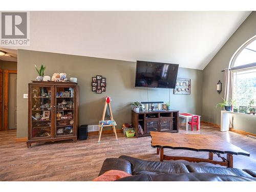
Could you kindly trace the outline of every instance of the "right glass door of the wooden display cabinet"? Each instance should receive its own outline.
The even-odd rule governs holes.
[[[74,135],[74,87],[56,87],[55,94],[55,135]]]

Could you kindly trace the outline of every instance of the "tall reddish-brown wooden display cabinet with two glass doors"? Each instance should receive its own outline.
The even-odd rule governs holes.
[[[29,83],[28,141],[77,139],[79,86],[74,82]]]

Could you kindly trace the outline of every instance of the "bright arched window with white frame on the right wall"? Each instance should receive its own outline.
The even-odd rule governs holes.
[[[232,99],[236,106],[256,107],[256,36],[242,45],[230,61],[233,77]]]

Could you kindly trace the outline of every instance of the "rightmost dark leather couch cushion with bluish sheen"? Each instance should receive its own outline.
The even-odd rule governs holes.
[[[214,167],[214,166],[198,166],[198,165],[186,165],[190,173],[210,173],[219,175],[232,175],[240,177],[252,177],[241,169],[227,168],[227,167]]]

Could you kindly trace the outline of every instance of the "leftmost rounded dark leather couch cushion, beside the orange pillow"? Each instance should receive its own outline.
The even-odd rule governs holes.
[[[102,164],[101,170],[99,172],[99,176],[108,170],[122,170],[128,174],[132,174],[132,165],[129,161],[125,159],[118,158],[108,158]]]

